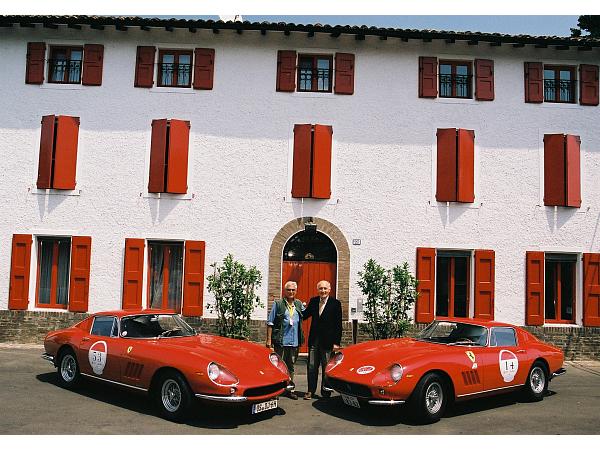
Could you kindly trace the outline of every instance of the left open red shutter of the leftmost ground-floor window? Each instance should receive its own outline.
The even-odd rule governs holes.
[[[8,309],[26,310],[29,304],[31,242],[30,234],[13,234]]]

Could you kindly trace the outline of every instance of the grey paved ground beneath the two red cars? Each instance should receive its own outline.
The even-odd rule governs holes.
[[[256,416],[241,407],[204,408],[175,424],[157,417],[140,394],[91,382],[76,392],[60,388],[41,352],[0,344],[0,434],[600,434],[599,362],[567,363],[541,403],[515,395],[473,400],[433,425],[412,423],[401,408],[349,408],[335,394],[281,398],[279,410]],[[305,367],[298,371],[303,391]]]

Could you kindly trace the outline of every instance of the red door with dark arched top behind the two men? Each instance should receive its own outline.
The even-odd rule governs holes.
[[[308,302],[317,295],[317,283],[327,280],[331,283],[331,297],[335,297],[337,279],[337,250],[325,234],[306,229],[293,235],[283,248],[283,264],[281,283],[295,281],[298,284],[296,297]],[[303,323],[304,335],[308,337],[310,319]],[[307,352],[305,340],[300,347],[301,352]]]

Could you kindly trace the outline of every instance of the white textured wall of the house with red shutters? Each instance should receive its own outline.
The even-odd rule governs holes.
[[[101,87],[26,85],[28,41],[105,47]],[[133,87],[137,45],[215,49],[210,91]],[[351,52],[355,94],[278,93],[277,50]],[[314,50],[313,50],[314,49]],[[493,59],[492,102],[418,98],[418,57]],[[600,107],[526,104],[523,62],[595,63],[597,51],[480,43],[356,41],[328,35],[185,30],[172,33],[0,29],[0,308],[6,309],[14,233],[92,236],[90,311],[118,308],[127,237],[206,241],[209,264],[231,252],[265,276],[275,234],[300,216],[334,223],[350,245],[350,306],[368,258],[408,261],[418,246],[493,249],[496,319],[523,324],[525,252],[598,251]],[[78,195],[36,193],[40,120],[81,118]],[[148,195],[151,121],[191,121],[189,192]],[[333,197],[289,198],[295,123],[333,126]],[[435,202],[437,128],[475,130],[476,203]],[[543,206],[543,135],[581,136],[582,207]],[[33,249],[35,250],[35,249]],[[30,309],[35,304],[32,255]],[[581,316],[581,284],[578,314]],[[205,293],[205,304],[211,296]],[[256,311],[255,318],[266,316]]]

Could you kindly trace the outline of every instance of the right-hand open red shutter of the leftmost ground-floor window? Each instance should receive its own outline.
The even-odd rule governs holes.
[[[69,283],[69,311],[87,312],[90,291],[90,258],[92,238],[71,238],[71,280]]]

